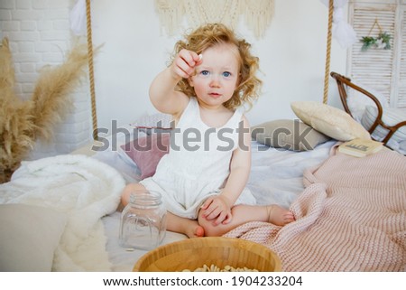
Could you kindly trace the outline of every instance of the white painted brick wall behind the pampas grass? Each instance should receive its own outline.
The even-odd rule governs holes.
[[[39,70],[59,65],[76,41],[69,29],[69,13],[76,0],[1,0],[0,38],[8,37],[13,53],[15,93],[32,97]],[[86,42],[85,37],[79,40]],[[88,78],[76,89],[74,110],[55,126],[51,144],[37,142],[29,159],[67,154],[91,139],[91,108]]]

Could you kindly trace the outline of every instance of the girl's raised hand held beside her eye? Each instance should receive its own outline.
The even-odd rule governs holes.
[[[201,63],[201,54],[194,51],[181,50],[175,57],[171,65],[172,74],[175,78],[189,79],[194,72],[195,67]]]

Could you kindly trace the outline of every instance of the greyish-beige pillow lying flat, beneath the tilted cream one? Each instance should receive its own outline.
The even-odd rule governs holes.
[[[259,143],[291,151],[313,150],[329,140],[300,120],[273,120],[251,128],[251,136]]]

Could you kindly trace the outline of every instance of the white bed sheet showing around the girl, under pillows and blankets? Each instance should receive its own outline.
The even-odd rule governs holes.
[[[118,142],[120,143],[120,141]],[[302,176],[306,168],[316,166],[328,158],[330,149],[337,141],[318,145],[314,150],[292,152],[275,149],[255,141],[252,143],[252,173],[247,183],[258,204],[279,204],[289,208],[291,202],[303,191]],[[121,140],[121,144],[123,140]],[[110,164],[123,173],[126,182],[140,180],[138,167],[121,151],[106,150],[94,155],[98,160]],[[120,212],[103,218],[109,254],[114,271],[132,271],[136,261],[146,251],[129,251],[118,244]],[[187,239],[186,236],[167,231],[162,244]]]

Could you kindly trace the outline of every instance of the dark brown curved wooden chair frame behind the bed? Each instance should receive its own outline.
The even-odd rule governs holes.
[[[337,81],[338,93],[340,95],[341,102],[343,104],[344,109],[346,110],[346,112],[348,114],[350,114],[351,117],[353,117],[353,116],[352,116],[351,111],[349,110],[348,104],[347,104],[347,93],[346,93],[347,87],[355,89],[355,90],[363,93],[366,97],[371,98],[374,101],[376,108],[378,108],[378,115],[376,116],[374,124],[368,129],[368,132],[370,134],[372,134],[374,132],[374,129],[377,126],[383,126],[383,128],[387,129],[388,133],[386,134],[386,136],[383,137],[383,140],[381,141],[381,142],[383,142],[383,145],[386,145],[388,143],[389,139],[391,139],[393,134],[401,126],[406,126],[406,120],[401,121],[400,123],[398,123],[394,126],[389,126],[389,125],[383,123],[383,120],[382,120],[383,107],[382,107],[381,103],[379,102],[378,98],[376,98],[372,93],[370,93],[366,89],[358,87],[353,82],[351,82],[351,80],[349,78],[346,78],[345,76],[340,75],[337,72],[332,71],[330,73],[330,76]]]

